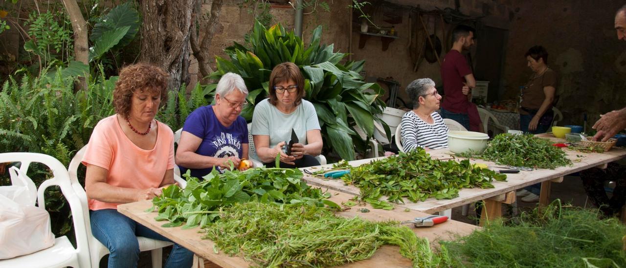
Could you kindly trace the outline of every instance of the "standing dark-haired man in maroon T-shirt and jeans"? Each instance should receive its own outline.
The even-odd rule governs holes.
[[[441,117],[461,123],[469,130],[469,92],[475,88],[476,79],[461,51],[474,44],[475,29],[459,25],[452,31],[452,49],[446,54],[441,64],[441,80],[443,80],[443,104]]]

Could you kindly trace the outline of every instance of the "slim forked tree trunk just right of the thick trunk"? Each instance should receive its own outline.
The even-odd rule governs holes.
[[[203,78],[210,75],[213,70],[211,68],[211,56],[208,53],[208,49],[211,46],[211,41],[213,39],[213,35],[215,34],[215,28],[217,28],[217,22],[220,19],[220,13],[222,13],[222,4],[223,0],[213,0],[211,4],[211,17],[208,19],[207,23],[203,25],[200,23],[200,31],[204,32],[202,36],[202,40],[198,42],[198,38],[200,37],[196,31],[195,24],[197,24],[202,17],[202,11],[200,10],[200,4],[198,3],[193,11],[193,25],[192,25],[192,34],[190,39],[190,44],[193,51],[193,56],[198,60],[198,68],[200,69],[200,75]]]

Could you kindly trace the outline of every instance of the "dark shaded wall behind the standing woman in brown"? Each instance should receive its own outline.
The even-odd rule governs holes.
[[[548,66],[560,75],[557,104],[564,124],[587,125],[600,113],[626,105],[626,43],[613,29],[619,1],[515,3],[505,61],[504,98],[513,98],[531,75],[524,53],[535,44],[548,50]]]

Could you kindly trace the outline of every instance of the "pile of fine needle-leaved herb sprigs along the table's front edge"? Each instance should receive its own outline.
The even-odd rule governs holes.
[[[259,267],[342,265],[369,259],[381,245],[398,245],[414,267],[446,261],[399,222],[346,219],[323,207],[248,202],[221,209],[219,217],[203,238]]]

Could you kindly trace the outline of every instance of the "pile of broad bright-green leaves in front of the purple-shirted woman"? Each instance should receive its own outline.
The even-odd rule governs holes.
[[[213,170],[203,180],[185,174],[187,186],[172,185],[163,194],[153,198],[155,220],[167,220],[163,227],[185,224],[183,229],[200,225],[205,227],[218,219],[219,209],[240,202],[306,204],[335,209],[339,205],[327,200],[331,195],[320,188],[312,188],[302,180],[302,172],[290,168],[251,168],[244,172]]]

